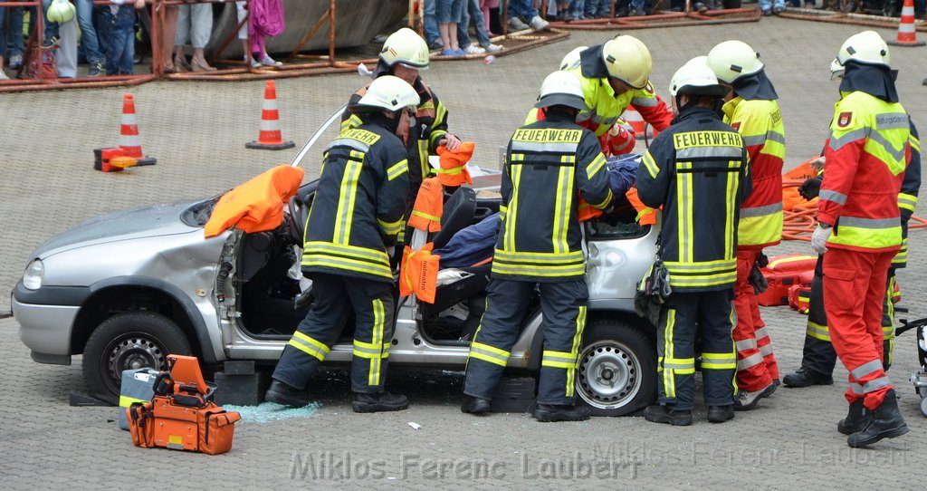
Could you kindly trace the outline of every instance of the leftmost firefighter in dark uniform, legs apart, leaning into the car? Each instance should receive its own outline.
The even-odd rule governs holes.
[[[394,315],[387,248],[400,231],[409,191],[408,161],[396,130],[405,121],[402,112],[418,103],[403,80],[377,78],[351,107],[360,124],[341,132],[324,151],[302,256],[315,302],[273,372],[265,397],[270,402],[309,403],[306,382],[353,313],[351,407],[374,412],[408,406],[404,395],[383,390]]]

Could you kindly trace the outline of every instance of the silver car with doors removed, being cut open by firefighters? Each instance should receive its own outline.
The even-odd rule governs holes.
[[[449,200],[449,226],[443,238],[432,239],[446,241],[497,212],[498,193],[475,191],[499,183],[498,174],[479,177],[463,191],[474,199]],[[295,265],[316,185],[300,187],[284,223],[269,232],[230,230],[204,239],[217,196],[108,213],[49,239],[32,252],[13,291],[20,339],[38,363],[69,365],[72,355],[83,354],[91,394],[110,403],[119,398],[123,369],[163,369],[171,353],[197,355],[208,366],[228,360],[273,366],[311,303]],[[653,262],[657,232],[636,224],[633,213],[585,226],[590,304],[577,394],[593,414],[628,414],[654,400],[654,327],[634,313],[633,296]],[[486,281],[478,271],[469,278]],[[463,369],[480,314],[474,305],[482,304],[473,300],[485,295],[470,286],[441,287],[438,308],[414,296],[400,299],[390,364]],[[540,370],[540,324],[534,308],[520,326],[512,371]],[[348,362],[351,351],[346,329],[326,362]]]

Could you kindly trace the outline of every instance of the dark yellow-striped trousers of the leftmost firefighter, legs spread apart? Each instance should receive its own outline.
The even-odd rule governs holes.
[[[393,336],[392,283],[314,273],[312,294],[315,301],[286,344],[273,378],[298,389],[305,387],[353,312],[356,325],[351,391],[382,392]]]

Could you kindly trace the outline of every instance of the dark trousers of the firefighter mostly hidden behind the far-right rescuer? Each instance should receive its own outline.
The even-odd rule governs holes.
[[[808,320],[805,333],[805,348],[802,353],[802,368],[822,375],[832,375],[837,363],[833,351],[831,332],[827,329],[827,315],[824,313],[823,256],[818,256],[814,280],[811,282]],[[888,269],[887,288],[882,304],[883,357],[885,371],[892,366],[892,352],[895,349],[895,267]]]

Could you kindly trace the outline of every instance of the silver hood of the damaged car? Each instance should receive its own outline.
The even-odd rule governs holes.
[[[67,232],[48,239],[36,249],[33,256],[45,257],[57,252],[104,242],[175,235],[201,230],[202,227],[188,226],[180,220],[180,214],[195,202],[197,201],[156,204],[100,215],[74,226]]]

